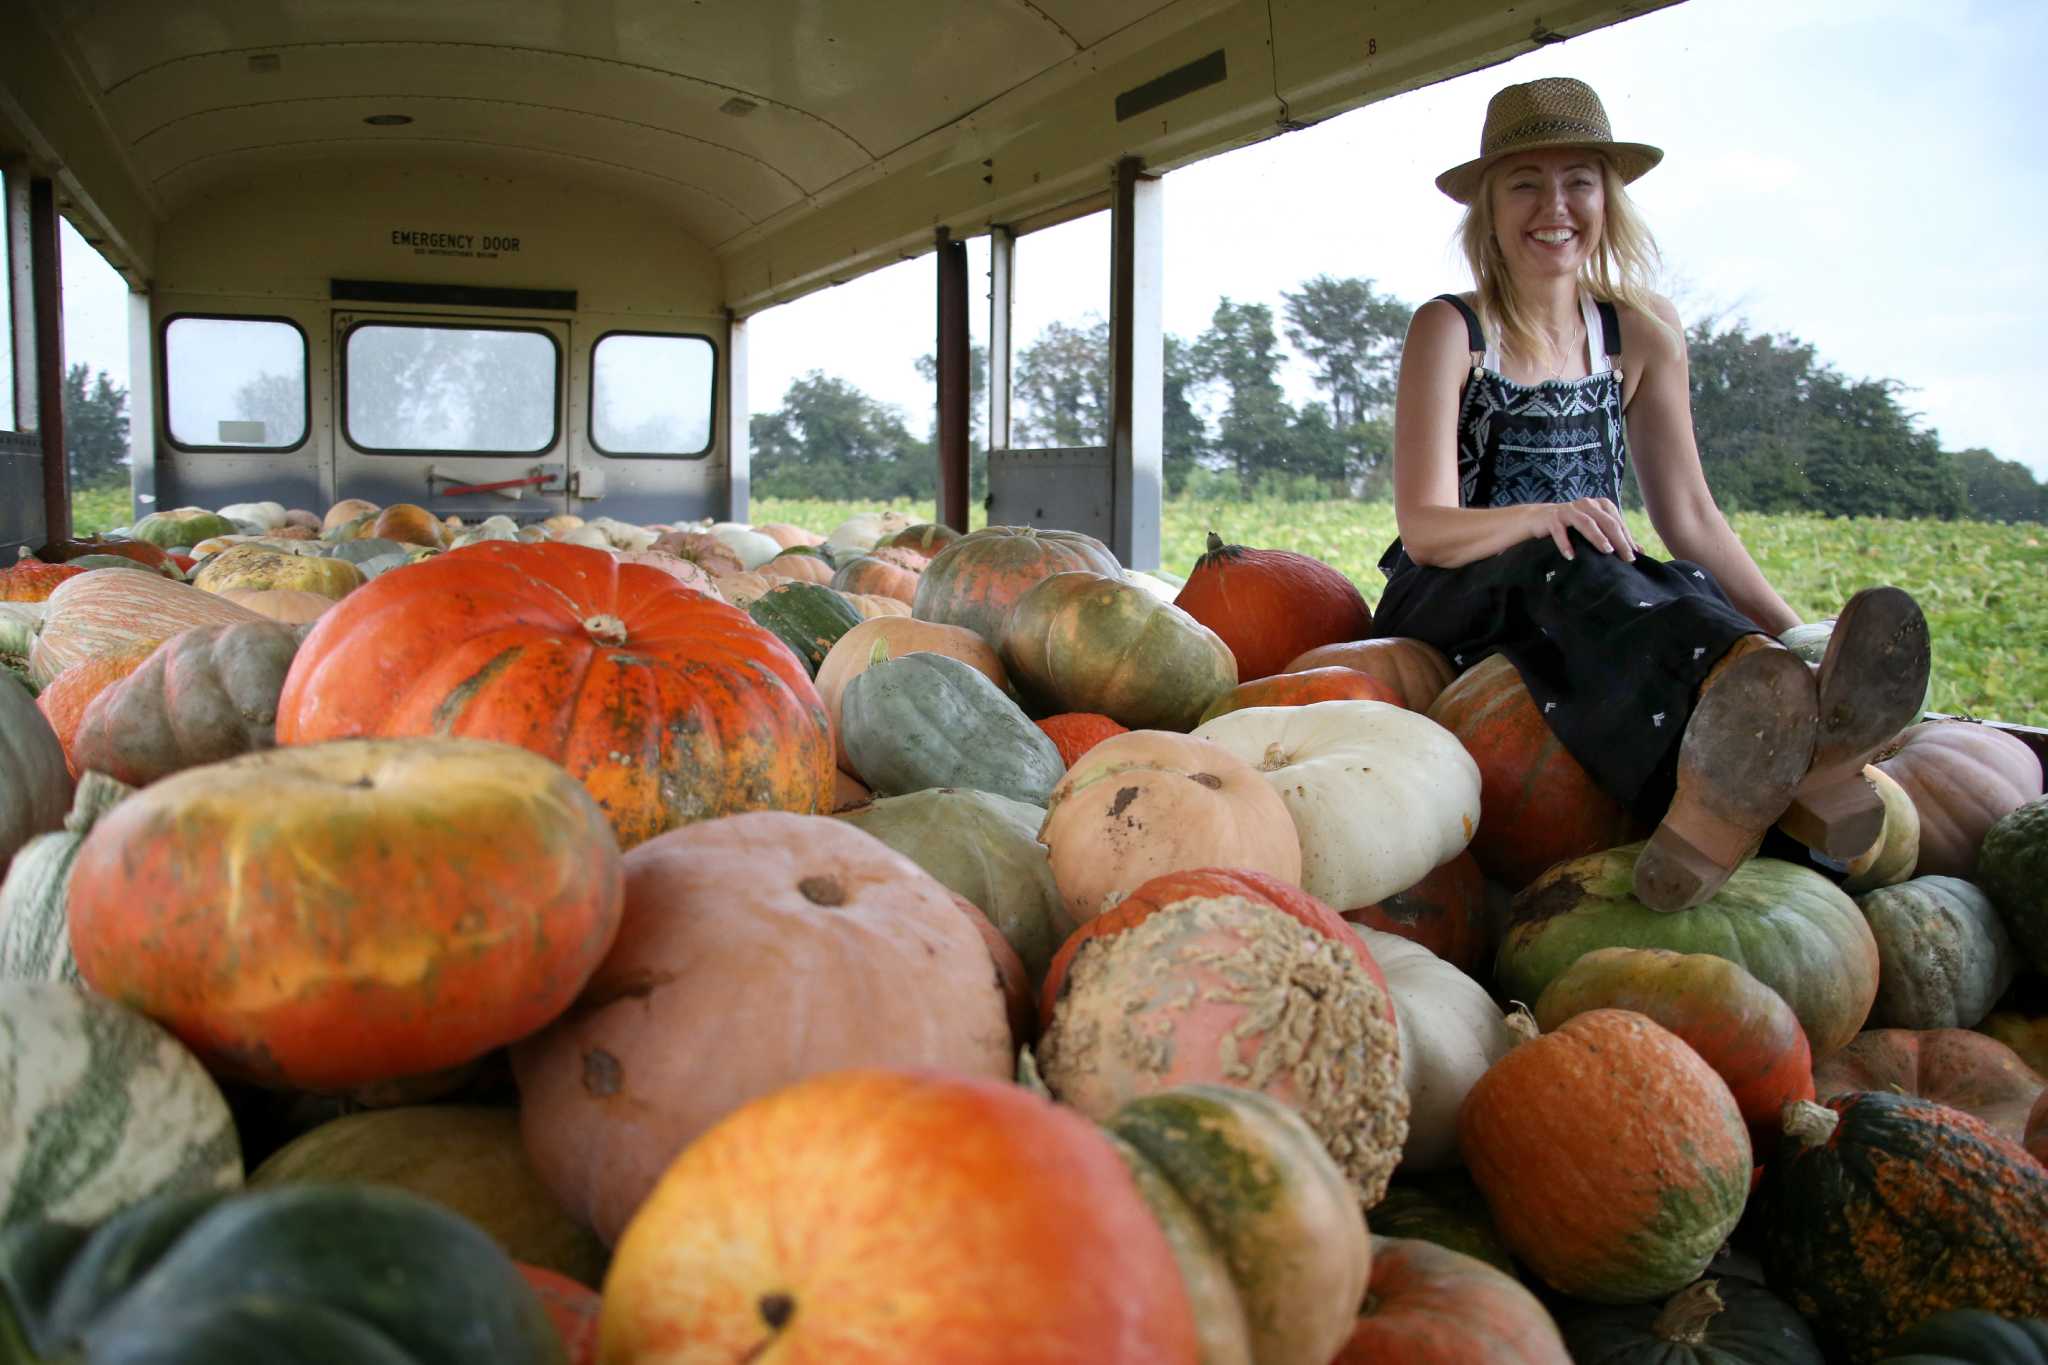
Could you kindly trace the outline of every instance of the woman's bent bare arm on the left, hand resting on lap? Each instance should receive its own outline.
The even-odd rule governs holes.
[[[1458,505],[1458,393],[1470,370],[1464,317],[1432,299],[1415,309],[1395,391],[1395,520],[1417,565],[1456,569],[1550,536],[1571,559],[1571,532],[1602,553],[1636,557],[1620,510],[1604,497],[1522,508]]]

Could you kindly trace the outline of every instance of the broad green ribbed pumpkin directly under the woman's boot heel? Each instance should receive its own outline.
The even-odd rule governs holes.
[[[1640,847],[1559,864],[1516,896],[1493,962],[1499,995],[1534,1001],[1595,948],[1710,952],[1784,997],[1815,1058],[1855,1038],[1878,995],[1878,943],[1847,894],[1819,872],[1751,857],[1708,900],[1659,915],[1634,898]]]

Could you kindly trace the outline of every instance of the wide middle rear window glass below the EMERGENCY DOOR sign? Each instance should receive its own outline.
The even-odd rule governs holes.
[[[358,450],[535,454],[555,444],[561,356],[545,332],[362,323],[348,332]]]

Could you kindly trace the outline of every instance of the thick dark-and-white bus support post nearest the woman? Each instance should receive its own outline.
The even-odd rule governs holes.
[[[1163,184],[1137,158],[1116,162],[1110,207],[1110,548],[1126,569],[1159,567],[1165,334]]]

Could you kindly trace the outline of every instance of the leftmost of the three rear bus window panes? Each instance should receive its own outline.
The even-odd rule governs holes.
[[[297,446],[305,440],[305,336],[287,321],[172,317],[164,397],[180,446]]]

